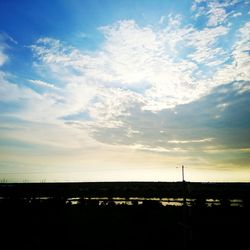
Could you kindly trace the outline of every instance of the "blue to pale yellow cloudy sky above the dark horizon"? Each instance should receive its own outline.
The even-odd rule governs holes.
[[[250,181],[250,2],[0,0],[0,182]]]

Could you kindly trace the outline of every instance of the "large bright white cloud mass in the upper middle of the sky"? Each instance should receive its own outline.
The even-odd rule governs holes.
[[[63,102],[50,96],[56,103],[53,108],[66,110],[66,115],[85,111],[97,126],[112,127],[135,104],[157,112],[208,94],[218,83],[194,72],[202,64],[215,68],[226,60],[216,43],[229,29],[196,30],[182,26],[180,20],[178,15],[169,16],[168,26],[158,31],[133,20],[101,27],[105,42],[95,52],[81,52],[52,38],[39,39],[31,48],[40,66],[64,86],[56,94]],[[186,48],[194,51],[184,59],[181,51]]]

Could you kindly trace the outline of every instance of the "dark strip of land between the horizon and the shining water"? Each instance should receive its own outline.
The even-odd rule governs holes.
[[[249,197],[250,183],[72,182],[0,183],[0,197]]]

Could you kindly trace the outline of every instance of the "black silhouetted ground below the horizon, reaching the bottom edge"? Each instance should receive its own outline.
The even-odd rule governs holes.
[[[202,185],[200,188],[196,186],[196,189],[189,187],[189,190],[186,190],[186,183],[166,184],[165,188],[171,186],[172,192],[169,189],[165,197],[182,197],[181,206],[174,206],[175,203],[162,205],[159,200],[141,201],[139,198],[131,205],[126,205],[128,204],[126,202],[133,197],[132,189],[142,192],[140,185],[144,187],[144,197],[151,197],[145,187],[153,192],[157,186],[154,183],[147,185],[126,183],[120,186],[113,183],[113,189],[116,190],[114,196],[111,195],[110,183],[96,184],[95,187],[98,188],[93,188],[94,184],[93,186],[83,184],[88,190],[88,197],[87,193],[85,196],[82,193],[78,202],[69,202],[65,184],[61,184],[64,185],[63,188],[61,186],[63,192],[61,189],[61,192],[55,192],[54,184],[34,185],[0,185],[2,249],[249,249],[250,247],[249,184],[242,184],[243,186],[238,184],[234,188],[231,184],[228,184],[228,188],[223,184],[224,190],[227,190],[224,196],[218,189],[222,186],[218,184],[207,188]],[[104,203],[98,192],[103,192],[103,197],[106,196],[107,193],[104,191],[107,186],[109,198],[108,202]],[[131,196],[124,198],[124,201],[126,200],[124,204],[117,205],[113,202],[113,198],[119,194],[118,197],[122,197],[122,192],[119,193],[117,189],[124,186],[130,187]],[[218,189],[217,198],[221,202],[217,205],[208,204],[209,195],[216,199],[215,187]],[[36,188],[39,192],[37,191],[35,196]],[[68,188],[70,189],[70,185]],[[164,185],[161,188],[164,188]],[[231,192],[228,191],[230,189]],[[25,190],[26,194],[21,190]],[[92,196],[89,190],[92,190]],[[179,190],[179,196],[176,190]],[[192,190],[195,190],[195,193],[192,193]],[[97,202],[97,194],[101,201]],[[156,194],[154,193],[154,197],[157,197]],[[72,195],[71,193],[70,196]],[[186,204],[185,200],[190,197],[193,203]],[[242,199],[244,202],[239,206],[232,206],[228,202],[229,198]]]

